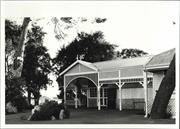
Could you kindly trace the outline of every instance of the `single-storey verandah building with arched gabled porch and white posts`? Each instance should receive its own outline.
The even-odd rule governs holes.
[[[81,103],[98,110],[104,107],[143,109],[147,116],[151,106],[149,102],[154,98],[154,79],[157,79],[150,70],[155,58],[148,55],[95,63],[77,60],[60,73],[64,77],[64,101],[74,103],[75,108]],[[77,97],[77,80],[81,80],[79,85],[86,98],[84,102],[79,102]],[[66,93],[69,89],[75,92],[73,100],[68,100]]]

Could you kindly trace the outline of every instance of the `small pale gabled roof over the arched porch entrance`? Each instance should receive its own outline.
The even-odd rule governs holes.
[[[82,61],[82,60],[76,60],[73,64],[71,64],[68,68],[66,68],[64,71],[62,71],[59,75],[63,75],[64,73],[66,73],[68,70],[70,70],[72,67],[74,67],[76,64],[81,64],[84,65],[90,69],[93,69],[95,71],[97,71],[97,68],[90,62],[86,62],[86,61]]]

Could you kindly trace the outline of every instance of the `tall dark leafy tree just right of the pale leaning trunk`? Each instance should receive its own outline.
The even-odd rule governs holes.
[[[29,104],[31,103],[31,93],[37,105],[40,98],[40,89],[46,89],[47,84],[51,83],[48,78],[48,74],[51,72],[51,58],[47,53],[46,47],[43,46],[45,34],[41,27],[32,25],[27,35],[28,41],[24,52],[23,77],[26,80]]]

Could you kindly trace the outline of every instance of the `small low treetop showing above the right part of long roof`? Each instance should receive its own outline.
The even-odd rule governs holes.
[[[122,49],[121,52],[119,51],[117,52],[117,57],[121,57],[125,59],[125,58],[139,57],[146,54],[147,52],[144,52],[143,50],[125,48],[125,49]]]

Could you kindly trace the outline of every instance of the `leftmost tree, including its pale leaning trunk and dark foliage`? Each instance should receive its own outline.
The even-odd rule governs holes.
[[[27,23],[26,18],[23,27],[5,20],[5,100],[6,103],[11,102],[13,106],[16,106],[18,111],[27,106],[23,95],[25,81],[20,76],[22,60],[19,60],[23,57],[23,52],[20,52],[23,48],[20,49],[19,44],[24,42],[25,34],[23,33],[26,33]]]

